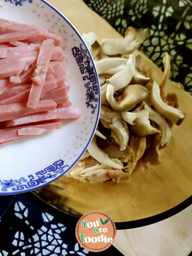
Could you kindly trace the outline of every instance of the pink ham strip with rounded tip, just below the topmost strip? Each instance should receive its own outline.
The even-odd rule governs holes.
[[[31,37],[35,37],[41,34],[41,31],[38,29],[25,29],[23,31],[16,31],[7,34],[0,35],[0,43],[12,42],[12,41],[21,41],[26,40]]]

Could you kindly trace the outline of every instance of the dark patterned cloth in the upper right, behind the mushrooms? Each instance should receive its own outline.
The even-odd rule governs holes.
[[[163,68],[165,52],[171,56],[171,78],[192,95],[191,0],[83,0],[121,35],[128,26],[151,29],[140,47]]]

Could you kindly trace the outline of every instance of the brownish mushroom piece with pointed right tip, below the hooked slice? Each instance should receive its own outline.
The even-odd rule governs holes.
[[[150,124],[148,110],[137,111],[137,113],[141,114],[142,116],[140,118],[136,118],[134,124],[130,126],[132,132],[138,136],[147,136],[160,132]]]

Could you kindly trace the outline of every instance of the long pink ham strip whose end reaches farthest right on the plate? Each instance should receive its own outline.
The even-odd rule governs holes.
[[[23,124],[44,122],[44,121],[48,121],[48,120],[76,119],[79,117],[81,117],[81,109],[79,106],[74,106],[72,108],[57,108],[52,111],[23,116],[20,118],[6,121],[5,127],[12,127],[12,126],[18,126],[18,125],[23,125]]]

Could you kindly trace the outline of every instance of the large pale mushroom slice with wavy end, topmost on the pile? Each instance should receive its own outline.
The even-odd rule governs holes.
[[[101,42],[102,52],[107,55],[129,54],[150,36],[149,28],[127,28],[123,39],[104,39]]]

